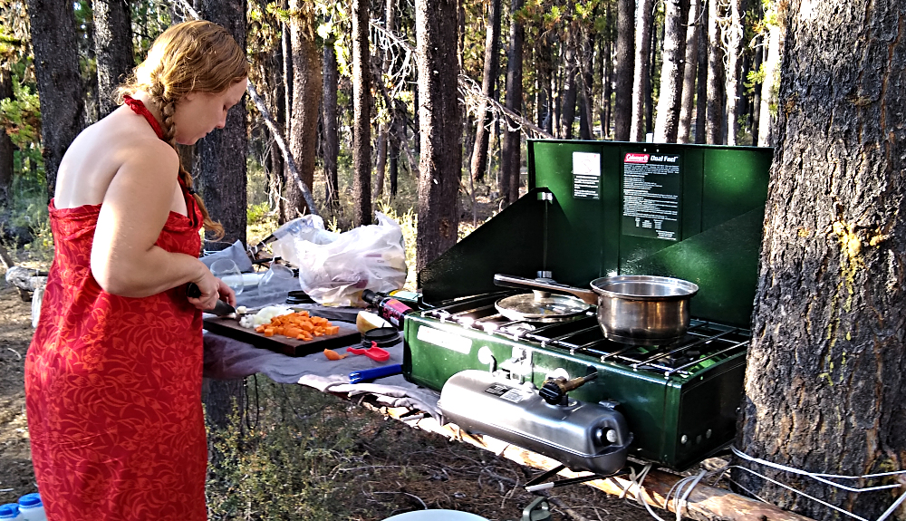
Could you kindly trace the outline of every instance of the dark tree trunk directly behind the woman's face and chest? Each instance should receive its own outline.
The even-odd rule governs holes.
[[[197,0],[198,14],[222,25],[240,48],[246,48],[245,0]],[[205,249],[219,250],[236,242],[246,244],[246,103],[239,102],[226,114],[226,127],[215,129],[195,145],[194,169],[205,206],[224,227],[225,236],[208,236]]]

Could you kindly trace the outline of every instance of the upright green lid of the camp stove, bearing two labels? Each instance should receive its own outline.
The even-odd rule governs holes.
[[[576,189],[590,147],[598,198]],[[528,149],[530,186],[551,190],[564,214],[550,221],[555,279],[588,287],[597,276],[679,277],[699,285],[693,317],[748,326],[771,149],[564,140],[529,140]]]

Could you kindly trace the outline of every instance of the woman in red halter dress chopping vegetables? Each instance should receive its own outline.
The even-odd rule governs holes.
[[[176,143],[223,128],[247,75],[222,27],[174,25],[120,87],[126,104],[63,156],[56,252],[25,362],[34,474],[53,521],[207,518],[201,310],[236,297],[198,260],[202,222],[223,228]]]

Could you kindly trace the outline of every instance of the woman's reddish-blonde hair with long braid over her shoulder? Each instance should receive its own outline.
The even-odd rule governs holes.
[[[163,117],[163,140],[177,150],[176,108],[189,92],[224,92],[248,76],[246,54],[226,29],[205,20],[172,25],[151,45],[148,57],[117,89],[117,97],[147,92]],[[178,152],[178,150],[177,150]],[[202,198],[192,188],[192,175],[179,159],[179,178],[198,202],[205,229],[217,238],[224,228],[211,219]]]

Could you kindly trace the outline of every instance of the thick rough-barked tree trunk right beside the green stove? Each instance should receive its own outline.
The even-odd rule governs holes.
[[[788,15],[737,447],[812,472],[852,476],[901,470],[906,468],[902,5],[794,2]],[[901,487],[852,494],[769,468],[757,470],[869,519],[903,492]],[[850,518],[747,472],[737,470],[735,479],[805,516]],[[903,518],[902,510],[895,518]]]

